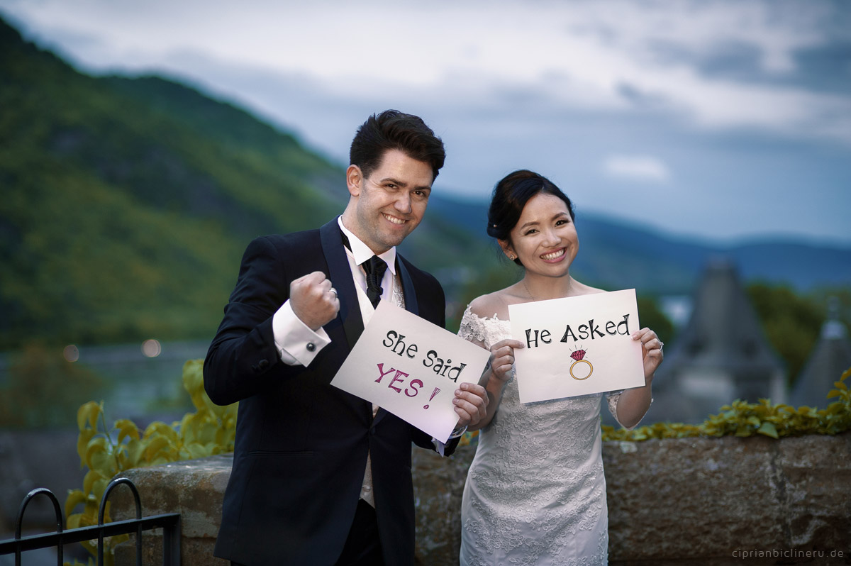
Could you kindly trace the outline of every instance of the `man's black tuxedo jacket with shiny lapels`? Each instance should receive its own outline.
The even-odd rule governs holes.
[[[441,327],[443,289],[397,255],[406,308]],[[326,274],[340,298],[331,339],[308,367],[281,362],[271,320],[289,283]],[[337,220],[318,230],[259,237],[204,362],[217,404],[240,402],[233,469],[215,556],[250,566],[333,564],[346,542],[371,455],[375,510],[386,563],[414,563],[411,443],[431,437],[330,385],[363,320]],[[457,440],[446,448],[451,454]]]

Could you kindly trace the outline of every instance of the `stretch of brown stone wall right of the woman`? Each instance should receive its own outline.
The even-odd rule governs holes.
[[[741,563],[734,554],[754,550],[851,557],[851,435],[683,438],[606,448],[613,560]]]

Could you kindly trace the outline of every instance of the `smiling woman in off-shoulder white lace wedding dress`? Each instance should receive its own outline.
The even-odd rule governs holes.
[[[479,426],[461,506],[460,563],[467,566],[608,563],[606,481],[600,439],[603,397],[615,419],[636,426],[650,405],[662,343],[643,344],[645,386],[623,392],[520,403],[508,306],[603,293],[570,276],[579,249],[570,199],[549,180],[516,171],[494,187],[488,234],[523,279],[473,300],[459,334],[491,351],[488,414]],[[565,371],[568,364],[565,363]]]

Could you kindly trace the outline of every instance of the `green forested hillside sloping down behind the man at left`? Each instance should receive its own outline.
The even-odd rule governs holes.
[[[158,78],[93,78],[0,22],[0,340],[214,331],[248,238],[339,209],[338,170]],[[344,189],[345,190],[345,189]]]

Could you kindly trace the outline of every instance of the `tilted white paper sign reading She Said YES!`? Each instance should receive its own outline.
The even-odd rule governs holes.
[[[382,300],[331,385],[379,405],[445,443],[453,399],[477,383],[490,352]]]

